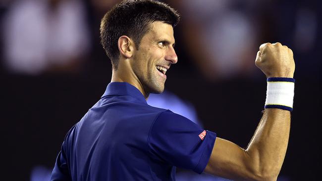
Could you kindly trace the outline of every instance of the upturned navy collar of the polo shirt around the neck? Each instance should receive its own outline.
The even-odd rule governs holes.
[[[147,104],[147,101],[145,100],[140,90],[126,82],[109,83],[102,97],[105,97],[107,95],[129,95]]]

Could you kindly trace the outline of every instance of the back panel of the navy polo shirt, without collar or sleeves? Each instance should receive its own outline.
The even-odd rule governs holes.
[[[131,99],[101,99],[66,136],[62,152],[73,181],[154,180],[147,141],[153,121],[164,110],[152,111]],[[159,169],[169,173],[172,166]]]

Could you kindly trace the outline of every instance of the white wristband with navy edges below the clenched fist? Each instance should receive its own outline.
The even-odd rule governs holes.
[[[265,108],[278,108],[292,111],[294,83],[295,79],[293,78],[268,78]]]

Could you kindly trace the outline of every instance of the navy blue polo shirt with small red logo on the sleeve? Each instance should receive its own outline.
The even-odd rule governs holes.
[[[174,181],[175,168],[202,173],[216,135],[147,104],[128,83],[102,98],[67,133],[52,181]]]

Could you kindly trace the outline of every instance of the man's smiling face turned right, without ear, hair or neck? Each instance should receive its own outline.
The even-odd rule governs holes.
[[[161,21],[151,23],[131,61],[137,81],[147,95],[164,90],[165,73],[178,59],[173,46],[172,26]]]

